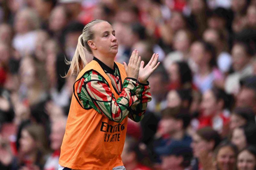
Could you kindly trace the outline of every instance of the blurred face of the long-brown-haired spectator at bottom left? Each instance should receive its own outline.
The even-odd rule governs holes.
[[[21,131],[20,152],[29,154],[36,148],[36,141],[30,136],[27,130]]]

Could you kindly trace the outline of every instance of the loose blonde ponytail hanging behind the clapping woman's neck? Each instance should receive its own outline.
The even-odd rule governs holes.
[[[81,34],[78,38],[76,52],[75,52],[75,55],[73,56],[72,61],[67,61],[67,60],[65,61],[65,63],[70,65],[70,67],[68,69],[68,73],[64,76],[64,78],[79,74],[79,72],[87,64],[84,50],[86,49],[84,48],[83,34]]]

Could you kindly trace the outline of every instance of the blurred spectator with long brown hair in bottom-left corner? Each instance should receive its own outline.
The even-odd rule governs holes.
[[[19,140],[20,148],[18,156],[15,157],[8,152],[8,143],[1,145],[1,152],[5,153],[6,158],[0,159],[4,168],[10,169],[42,169],[47,159],[47,139],[44,128],[38,124],[26,126],[21,131]]]

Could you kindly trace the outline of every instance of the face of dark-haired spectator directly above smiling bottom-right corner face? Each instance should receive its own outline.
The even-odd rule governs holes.
[[[246,146],[246,137],[244,130],[240,128],[234,129],[232,133],[231,142],[236,145],[239,151],[241,151]]]

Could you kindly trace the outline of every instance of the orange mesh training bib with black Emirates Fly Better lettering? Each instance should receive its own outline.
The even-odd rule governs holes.
[[[127,77],[124,66],[116,63],[122,82]],[[100,64],[94,60],[79,73],[74,84],[66,131],[61,145],[59,164],[72,169],[106,169],[122,166],[121,153],[127,130],[127,117],[121,122],[110,121],[93,108],[84,109],[78,100],[79,80],[86,71],[95,70],[103,76],[114,94],[119,98]]]

